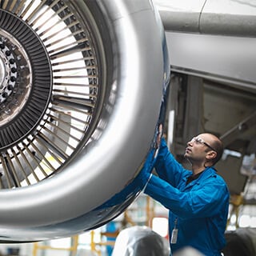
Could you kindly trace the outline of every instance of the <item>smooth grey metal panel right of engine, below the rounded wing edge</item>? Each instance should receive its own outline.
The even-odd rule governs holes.
[[[255,38],[166,32],[172,70],[254,92]]]

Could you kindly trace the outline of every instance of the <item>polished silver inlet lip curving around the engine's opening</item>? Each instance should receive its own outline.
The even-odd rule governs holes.
[[[78,10],[86,2],[70,9]],[[0,191],[0,240],[60,238],[102,225],[138,195],[136,177],[144,163],[147,172],[153,168],[154,138],[170,69],[162,24],[147,0],[102,0],[93,7],[100,11],[92,10],[92,15],[104,14],[109,31],[102,33],[110,34],[112,41],[106,45],[113,53],[106,56],[114,59],[108,68],[112,73],[106,74],[110,94],[98,119],[104,130],[72,156],[62,172],[33,186]],[[102,42],[104,48],[104,34]],[[130,184],[133,189],[124,193]],[[107,205],[115,195],[121,200]]]

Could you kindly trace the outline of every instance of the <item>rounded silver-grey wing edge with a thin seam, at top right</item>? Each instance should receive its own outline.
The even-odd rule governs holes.
[[[254,1],[154,0],[168,31],[254,37]]]

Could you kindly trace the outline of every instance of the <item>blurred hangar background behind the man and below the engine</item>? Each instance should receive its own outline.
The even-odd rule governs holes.
[[[210,132],[222,138],[226,150],[216,167],[231,193],[227,232],[254,230],[256,90],[239,86],[237,81],[232,83],[231,78],[219,80],[214,74],[171,66],[165,135],[173,154],[188,169],[183,153],[194,134]],[[150,226],[167,238],[167,214],[158,202],[141,194],[121,216],[96,230],[60,240],[1,245],[0,249],[3,255],[11,248],[19,248],[17,255],[24,256],[111,255],[108,250],[114,246],[118,233],[129,226]]]

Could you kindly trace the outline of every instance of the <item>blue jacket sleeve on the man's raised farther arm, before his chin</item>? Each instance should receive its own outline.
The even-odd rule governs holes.
[[[160,178],[173,186],[177,186],[183,175],[188,172],[170,153],[164,138],[162,138],[154,168]]]

